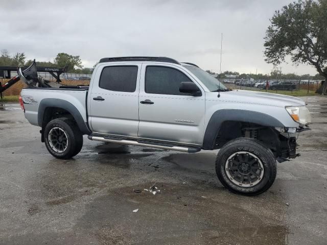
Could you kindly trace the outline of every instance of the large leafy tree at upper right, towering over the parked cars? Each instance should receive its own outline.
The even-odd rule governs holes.
[[[327,1],[299,0],[275,11],[264,38],[266,61],[313,65],[327,79]]]

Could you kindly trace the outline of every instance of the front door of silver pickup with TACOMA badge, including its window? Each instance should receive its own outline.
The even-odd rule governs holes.
[[[143,64],[139,91],[138,137],[201,144],[205,100],[179,92],[181,82],[194,82],[180,67]]]

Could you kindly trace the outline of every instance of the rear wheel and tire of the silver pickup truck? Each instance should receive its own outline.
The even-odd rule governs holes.
[[[81,151],[83,134],[72,119],[57,118],[45,126],[44,143],[54,157],[69,159]]]

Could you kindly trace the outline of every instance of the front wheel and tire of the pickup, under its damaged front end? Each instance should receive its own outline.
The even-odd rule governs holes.
[[[216,173],[230,191],[259,195],[273,184],[277,164],[271,150],[260,141],[237,138],[230,140],[218,152]]]

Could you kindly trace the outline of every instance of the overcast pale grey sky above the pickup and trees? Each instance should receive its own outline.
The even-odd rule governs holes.
[[[61,52],[93,66],[102,57],[167,56],[219,71],[266,74],[263,37],[289,0],[1,0],[0,49],[52,61]],[[283,72],[316,74],[307,65]]]

